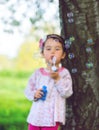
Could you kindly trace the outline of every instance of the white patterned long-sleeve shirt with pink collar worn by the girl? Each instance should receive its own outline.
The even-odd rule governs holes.
[[[36,70],[30,77],[25,96],[33,101],[27,122],[35,126],[55,126],[56,122],[65,124],[66,98],[72,95],[72,79],[69,71],[59,69],[60,80],[54,82],[45,68]],[[34,100],[37,89],[47,86],[46,100]]]

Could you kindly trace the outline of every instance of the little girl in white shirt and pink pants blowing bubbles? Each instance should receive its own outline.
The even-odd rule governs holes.
[[[28,130],[58,130],[65,124],[65,99],[73,93],[71,75],[61,65],[66,57],[64,39],[57,34],[47,35],[40,40],[40,49],[47,67],[37,69],[25,89],[25,96],[33,101]]]

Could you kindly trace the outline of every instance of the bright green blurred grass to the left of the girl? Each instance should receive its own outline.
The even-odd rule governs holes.
[[[24,96],[30,72],[0,72],[0,130],[27,129],[31,106]]]

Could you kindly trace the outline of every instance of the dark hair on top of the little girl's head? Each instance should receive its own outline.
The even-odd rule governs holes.
[[[57,40],[58,42],[60,42],[62,44],[62,48],[63,48],[63,51],[66,52],[66,48],[65,48],[65,40],[62,36],[58,35],[58,34],[49,34],[46,36],[46,39],[43,43],[43,48],[44,48],[44,45],[45,45],[45,42],[49,39],[49,38],[52,38],[52,39],[55,39]],[[43,50],[42,50],[43,52]]]

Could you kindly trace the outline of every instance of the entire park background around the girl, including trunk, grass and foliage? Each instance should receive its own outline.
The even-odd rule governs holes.
[[[64,37],[64,66],[73,79],[62,130],[98,130],[98,0],[0,1],[0,130],[27,129],[31,102],[24,88],[31,73],[45,66],[38,45],[47,33]]]

